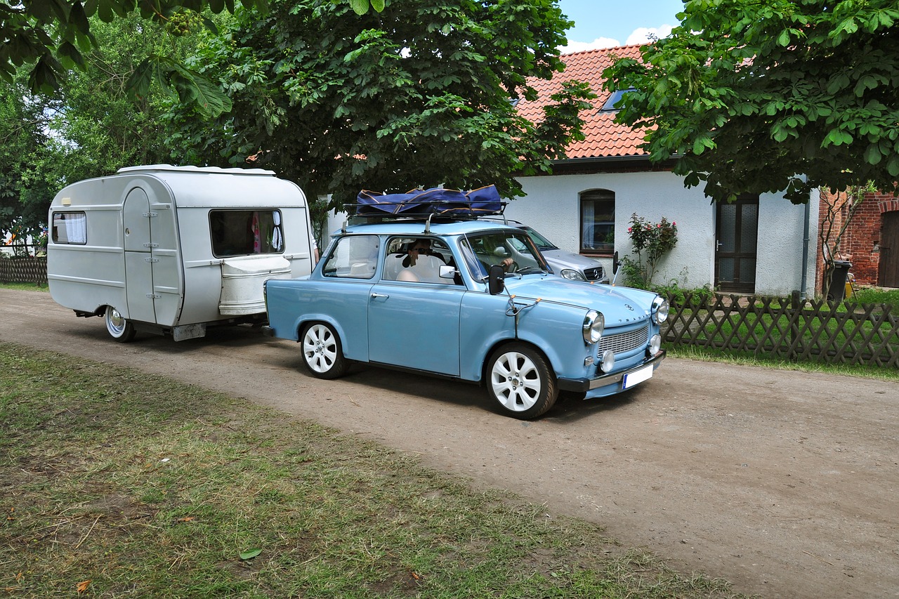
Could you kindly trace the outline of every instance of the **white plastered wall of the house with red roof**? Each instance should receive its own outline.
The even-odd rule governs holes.
[[[668,172],[562,174],[521,177],[525,197],[510,202],[506,215],[536,228],[556,246],[578,252],[579,194],[592,189],[615,192],[615,249],[631,251],[631,215],[653,222],[677,223],[678,243],[663,258],[654,282],[677,282],[683,289],[711,286],[715,280],[715,206],[701,187],[687,189],[681,176]],[[807,287],[814,286],[817,201],[812,202]],[[777,196],[759,202],[756,293],[788,295],[802,283],[805,207]],[[611,258],[600,258],[611,273]]]

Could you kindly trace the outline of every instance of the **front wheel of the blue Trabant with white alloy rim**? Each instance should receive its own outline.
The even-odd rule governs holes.
[[[487,394],[506,416],[529,420],[556,403],[556,375],[546,358],[528,344],[497,349],[487,362]]]

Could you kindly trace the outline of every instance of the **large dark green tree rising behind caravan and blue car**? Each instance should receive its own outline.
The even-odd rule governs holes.
[[[332,207],[362,188],[469,189],[521,194],[513,174],[534,174],[580,138],[578,112],[593,94],[570,83],[546,118],[516,112],[529,77],[563,68],[570,25],[555,0],[402,0],[354,13],[327,0],[237,11],[209,36],[195,64],[220,74],[233,109],[216,127],[189,115],[173,148],[188,163],[271,168]]]

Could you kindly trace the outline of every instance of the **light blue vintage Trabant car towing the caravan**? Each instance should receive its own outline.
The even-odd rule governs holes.
[[[346,226],[314,271],[265,283],[265,335],[307,371],[351,362],[482,384],[499,411],[541,416],[560,391],[599,398],[650,379],[668,302],[549,273],[520,228],[431,214]]]

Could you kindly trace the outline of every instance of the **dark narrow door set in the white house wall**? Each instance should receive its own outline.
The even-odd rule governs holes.
[[[717,204],[715,287],[734,293],[755,292],[759,238],[759,197]]]

